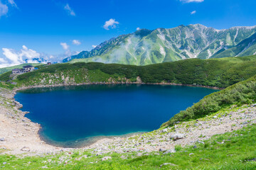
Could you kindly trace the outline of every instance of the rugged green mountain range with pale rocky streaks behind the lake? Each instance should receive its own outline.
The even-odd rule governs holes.
[[[220,58],[256,55],[256,26],[216,30],[195,24],[176,28],[137,30],[119,35],[90,52],[63,62],[103,62],[146,65],[188,58]]]

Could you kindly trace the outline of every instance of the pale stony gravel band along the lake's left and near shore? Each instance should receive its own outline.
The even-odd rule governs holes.
[[[18,109],[20,103],[14,100],[15,94],[12,90],[0,88],[0,99],[3,101],[0,103],[0,149],[1,154],[22,154],[22,157],[77,151],[90,151],[95,154],[159,152],[159,150],[174,149],[176,145],[195,145],[196,141],[202,140],[202,135],[204,136],[203,140],[207,140],[216,134],[238,130],[248,125],[250,121],[255,123],[256,118],[256,107],[247,106],[238,111],[230,111],[230,114],[217,115],[217,118],[210,115],[206,118],[179,123],[171,128],[160,128],[131,137],[102,138],[88,147],[63,148],[48,145],[41,140],[38,135],[41,125],[24,117],[26,112]],[[236,126],[233,126],[234,124]],[[171,135],[177,133],[183,135],[183,138],[176,141],[171,140]]]

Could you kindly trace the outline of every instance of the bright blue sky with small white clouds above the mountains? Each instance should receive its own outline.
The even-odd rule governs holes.
[[[0,0],[0,67],[24,56],[50,60],[91,50],[137,28],[255,26],[255,6],[255,0]]]

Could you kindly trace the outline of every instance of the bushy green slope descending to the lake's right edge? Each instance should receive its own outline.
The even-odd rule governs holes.
[[[253,103],[254,101],[256,101],[256,76],[204,97],[198,103],[187,108],[186,111],[181,111],[174,115],[162,126],[174,125],[178,121],[183,122],[202,118],[234,104],[241,105]]]

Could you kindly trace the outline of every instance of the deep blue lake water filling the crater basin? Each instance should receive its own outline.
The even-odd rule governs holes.
[[[22,111],[53,145],[79,147],[95,136],[156,130],[213,89],[161,85],[86,85],[20,91]]]

